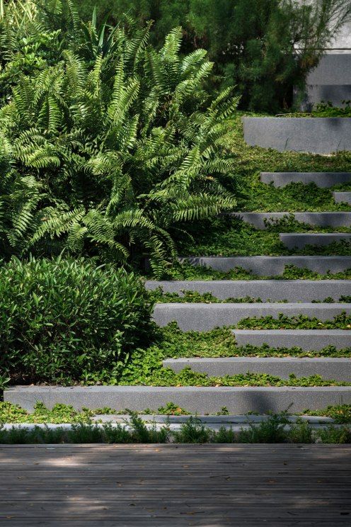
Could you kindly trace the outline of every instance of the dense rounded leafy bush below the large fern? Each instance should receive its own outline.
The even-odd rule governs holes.
[[[153,336],[139,278],[84,260],[0,267],[0,372],[13,382],[108,382]]]

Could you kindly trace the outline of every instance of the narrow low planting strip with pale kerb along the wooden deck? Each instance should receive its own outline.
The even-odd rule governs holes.
[[[188,416],[145,422],[130,412],[124,423],[7,425],[0,444],[28,443],[350,443],[347,424],[324,419],[292,419],[287,412],[219,422]],[[217,418],[218,419],[218,418]],[[328,419],[328,418],[327,418]],[[173,419],[174,421],[174,419]],[[321,421],[321,422],[320,422]]]

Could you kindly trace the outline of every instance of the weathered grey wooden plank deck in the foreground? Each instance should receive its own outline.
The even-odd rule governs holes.
[[[0,446],[0,525],[351,526],[351,446]]]

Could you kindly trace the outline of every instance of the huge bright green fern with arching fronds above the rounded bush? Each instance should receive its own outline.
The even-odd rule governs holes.
[[[209,96],[213,64],[203,50],[180,58],[180,28],[159,51],[149,26],[117,28],[104,52],[84,27],[0,111],[1,251],[121,262],[146,253],[161,276],[178,223],[235,204],[223,185],[234,160],[219,142],[238,101],[230,89]]]

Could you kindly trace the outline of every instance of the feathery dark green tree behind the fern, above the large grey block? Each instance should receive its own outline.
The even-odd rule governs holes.
[[[77,5],[86,16],[92,2]],[[113,23],[125,12],[140,25],[154,20],[156,47],[182,26],[182,51],[207,49],[221,77],[217,86],[236,84],[241,108],[268,112],[292,106],[293,86],[304,89],[306,74],[351,16],[350,0],[115,0],[112,6],[100,0],[97,6]]]

